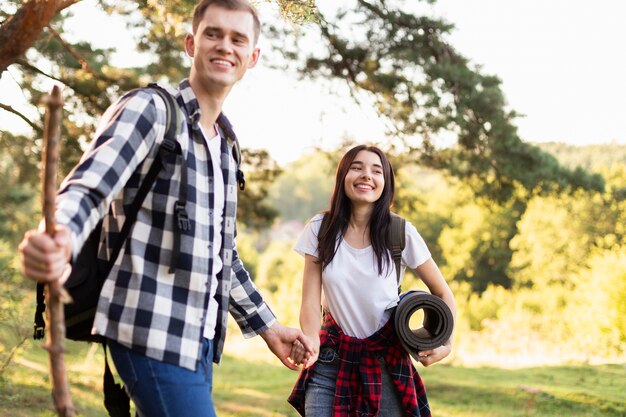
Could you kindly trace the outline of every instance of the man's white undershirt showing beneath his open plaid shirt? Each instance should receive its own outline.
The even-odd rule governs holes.
[[[202,136],[206,139],[208,136],[200,127]],[[219,133],[207,140],[209,145],[209,154],[211,164],[213,165],[213,273],[211,274],[211,292],[209,294],[209,306],[207,308],[206,322],[204,325],[203,336],[207,339],[215,337],[215,324],[217,322],[217,300],[215,293],[217,292],[217,274],[222,270],[222,258],[220,258],[220,249],[222,248],[222,222],[224,212],[224,176],[222,175],[222,138]]]

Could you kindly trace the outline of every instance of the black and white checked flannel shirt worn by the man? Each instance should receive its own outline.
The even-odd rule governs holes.
[[[237,254],[233,143],[220,132],[225,205],[222,230],[214,230],[211,156],[199,128],[200,108],[188,80],[169,91],[186,121],[177,139],[186,158],[191,228],[180,232],[177,268],[169,273],[173,206],[183,166],[180,155],[172,154],[165,158],[104,282],[93,331],[150,358],[195,370],[206,321],[214,233],[222,233],[223,262],[215,295],[219,307],[214,361],[219,362],[223,350],[228,310],[246,337],[266,330],[275,317]],[[62,183],[57,199],[57,222],[71,230],[74,253],[103,217],[104,237],[119,233],[124,210],[154,162],[165,129],[165,103],[149,89],[128,93],[103,115],[94,142]],[[101,256],[107,249],[101,247]]]

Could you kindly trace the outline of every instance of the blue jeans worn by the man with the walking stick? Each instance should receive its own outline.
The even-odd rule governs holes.
[[[195,372],[150,359],[112,340],[107,344],[137,416],[216,417],[212,340],[203,340]]]

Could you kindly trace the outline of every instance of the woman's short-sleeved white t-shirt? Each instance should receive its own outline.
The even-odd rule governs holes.
[[[317,234],[322,218],[317,214],[309,221],[296,242],[296,252],[318,257]],[[401,281],[407,266],[414,269],[431,257],[424,239],[408,221],[405,233]],[[389,320],[389,309],[398,304],[396,268],[391,255],[388,265],[386,269],[383,266],[380,275],[371,245],[356,249],[341,239],[335,257],[322,271],[322,306],[332,313],[346,335],[366,338]]]

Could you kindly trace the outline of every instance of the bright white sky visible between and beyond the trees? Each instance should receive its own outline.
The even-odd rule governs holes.
[[[334,0],[318,3],[328,1]],[[81,33],[106,34],[101,45],[129,45],[123,27],[94,13],[95,0],[71,7],[86,25],[77,25]],[[517,122],[523,140],[626,144],[626,3],[439,0],[433,13],[456,25],[450,41],[457,50],[502,80],[510,107],[526,116]],[[118,57],[137,59],[123,52]],[[6,78],[0,102],[15,94]],[[242,146],[268,149],[281,164],[314,145],[332,147],[345,135],[364,142],[384,137],[370,106],[271,70],[263,56],[235,87],[225,111]]]

